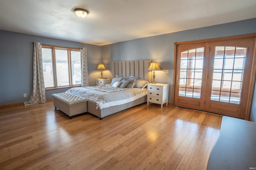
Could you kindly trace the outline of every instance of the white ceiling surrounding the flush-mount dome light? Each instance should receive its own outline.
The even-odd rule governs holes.
[[[0,0],[2,30],[94,45],[250,18],[256,0]]]

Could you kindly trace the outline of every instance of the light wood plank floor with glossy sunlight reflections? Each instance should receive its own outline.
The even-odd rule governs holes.
[[[205,170],[222,116],[142,104],[100,120],[53,102],[0,109],[0,169]]]

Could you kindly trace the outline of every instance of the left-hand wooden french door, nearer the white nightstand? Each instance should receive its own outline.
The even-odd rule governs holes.
[[[209,43],[179,45],[174,106],[204,110]]]

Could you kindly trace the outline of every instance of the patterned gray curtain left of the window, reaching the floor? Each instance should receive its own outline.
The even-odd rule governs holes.
[[[28,102],[31,104],[46,102],[42,61],[42,43],[39,42],[34,42],[33,88],[31,97]]]

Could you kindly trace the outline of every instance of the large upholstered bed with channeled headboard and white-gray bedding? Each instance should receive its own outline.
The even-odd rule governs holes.
[[[117,61],[112,62],[112,82],[116,78],[134,78],[136,81],[140,80],[146,80],[150,82],[150,72],[148,71],[148,67],[150,66],[151,61],[150,60],[140,60],[140,61]],[[120,82],[120,81],[119,81]],[[122,82],[122,81],[121,81]],[[138,86],[137,86],[138,87]],[[76,94],[78,96],[82,96],[84,98],[87,98],[87,109],[88,113],[91,113],[93,115],[96,115],[100,119],[103,117],[106,117],[108,115],[111,115],[113,113],[116,113],[118,111],[122,111],[124,109],[128,109],[130,107],[136,106],[138,104],[142,104],[144,102],[147,102],[147,90],[146,88],[119,88],[118,91],[114,92],[108,92],[108,90],[111,91],[112,84],[106,85],[106,87],[97,87],[97,86],[89,86],[89,87],[78,87],[78,88],[71,88],[70,90],[67,90],[67,92]],[[89,91],[91,94],[88,94],[88,92],[83,92],[83,89],[87,89],[86,91]],[[123,90],[124,89],[124,90]],[[134,96],[128,97],[128,100],[125,101],[123,99],[120,99],[117,97],[117,101],[107,101],[100,103],[99,100],[96,98],[97,95],[96,91],[98,91],[100,94],[98,95],[99,98],[104,99],[108,96],[123,96],[123,93],[135,93]],[[90,96],[92,95],[92,96]],[[126,94],[127,95],[127,94]]]

